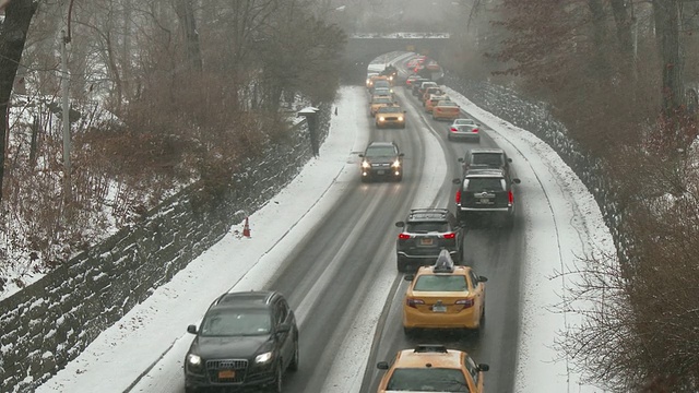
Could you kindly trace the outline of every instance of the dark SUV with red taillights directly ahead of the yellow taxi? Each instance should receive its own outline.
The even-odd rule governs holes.
[[[447,209],[414,209],[395,240],[399,272],[431,265],[441,250],[448,250],[454,263],[463,262],[463,228]]]

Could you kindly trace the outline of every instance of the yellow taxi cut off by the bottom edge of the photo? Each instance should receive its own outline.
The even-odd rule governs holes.
[[[462,350],[443,345],[423,344],[398,353],[393,362],[380,361],[379,370],[388,370],[378,393],[390,392],[484,392],[484,372],[490,369],[476,364]]]

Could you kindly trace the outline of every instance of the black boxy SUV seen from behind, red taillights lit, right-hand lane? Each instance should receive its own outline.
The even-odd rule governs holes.
[[[469,169],[461,179],[457,190],[457,215],[459,221],[467,222],[470,215],[496,215],[505,219],[507,225],[514,221],[514,194],[512,184],[520,179],[512,179],[502,169]]]

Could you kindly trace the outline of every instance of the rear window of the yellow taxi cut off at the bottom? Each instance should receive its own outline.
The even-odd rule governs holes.
[[[443,368],[395,369],[387,390],[414,392],[471,392],[463,372]]]

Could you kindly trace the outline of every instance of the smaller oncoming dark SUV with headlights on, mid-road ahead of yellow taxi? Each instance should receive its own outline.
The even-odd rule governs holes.
[[[394,142],[371,142],[362,157],[362,181],[376,178],[403,180],[403,153]]]

